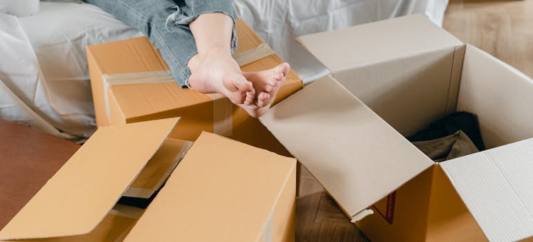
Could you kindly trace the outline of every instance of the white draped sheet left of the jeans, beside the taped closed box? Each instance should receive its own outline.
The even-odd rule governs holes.
[[[0,16],[0,118],[71,140],[91,136],[85,46],[141,32],[86,3],[41,3],[37,15]]]

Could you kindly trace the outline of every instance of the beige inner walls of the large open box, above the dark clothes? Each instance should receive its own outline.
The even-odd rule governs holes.
[[[460,51],[464,61],[458,58]],[[462,67],[457,77],[451,76],[455,62]],[[468,111],[478,115],[487,149],[533,137],[530,78],[473,46],[435,50],[333,76],[404,136],[454,111]]]

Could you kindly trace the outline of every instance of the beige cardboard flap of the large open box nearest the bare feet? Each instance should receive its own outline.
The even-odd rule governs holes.
[[[287,97],[260,120],[349,216],[433,165],[330,76]]]

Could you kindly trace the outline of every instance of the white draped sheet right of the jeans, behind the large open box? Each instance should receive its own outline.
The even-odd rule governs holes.
[[[329,72],[295,37],[415,13],[442,26],[446,6],[448,0],[235,0],[234,10],[309,83]]]

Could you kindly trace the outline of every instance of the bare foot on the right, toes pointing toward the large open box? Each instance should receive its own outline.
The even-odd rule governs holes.
[[[242,73],[246,80],[253,83],[255,93],[258,93],[253,105],[242,106],[242,108],[254,118],[264,115],[270,109],[290,68],[289,64],[283,63],[265,71]]]

